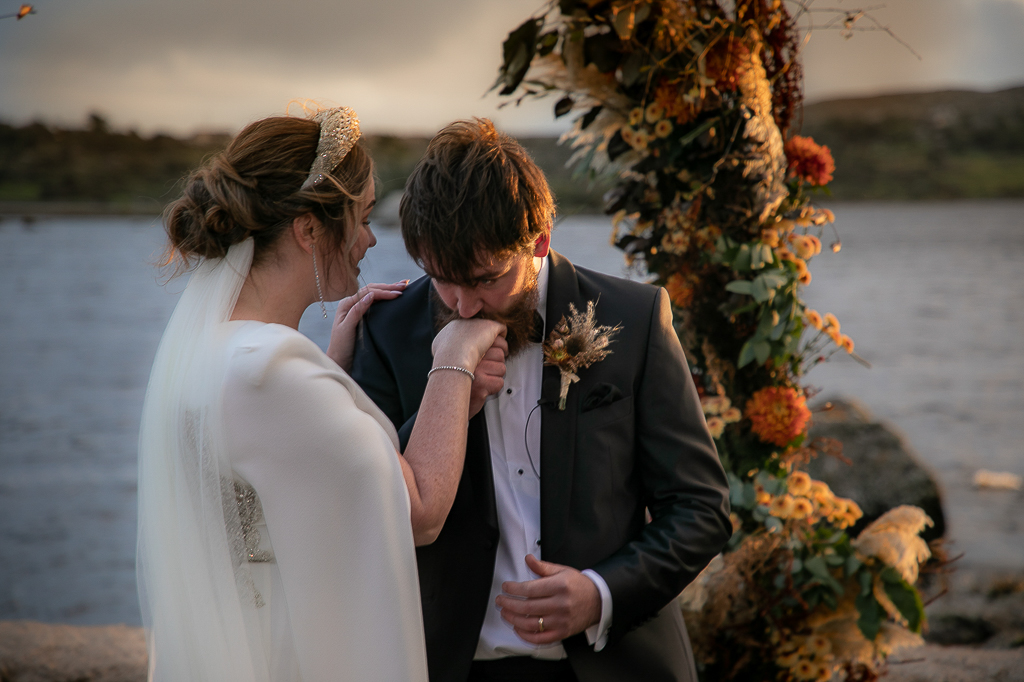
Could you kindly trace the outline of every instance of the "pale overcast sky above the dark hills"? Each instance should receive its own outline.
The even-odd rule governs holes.
[[[0,14],[19,0],[0,0]],[[553,133],[554,99],[498,112],[501,42],[543,0],[39,0],[0,20],[0,120],[237,130],[290,100],[347,104],[371,132],[432,133],[489,116]],[[877,3],[818,0],[855,8]],[[884,34],[814,32],[808,100],[1024,84],[1024,0],[890,0]],[[568,117],[566,117],[568,118]]]

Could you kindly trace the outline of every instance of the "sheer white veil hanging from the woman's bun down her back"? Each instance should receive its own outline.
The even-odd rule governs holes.
[[[142,408],[137,579],[150,679],[269,682],[220,420],[225,325],[253,240],[194,271]]]

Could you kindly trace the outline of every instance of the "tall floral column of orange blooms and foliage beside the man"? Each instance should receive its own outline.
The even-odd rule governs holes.
[[[708,679],[878,679],[899,642],[920,643],[925,617],[912,588],[893,596],[887,563],[909,569],[914,543],[877,528],[855,549],[860,507],[798,470],[842,453],[809,435],[807,372],[841,349],[867,365],[836,315],[804,300],[826,230],[840,249],[835,214],[813,200],[831,152],[786,140],[807,9],[550,0],[503,46],[506,95],[557,93],[556,118],[575,113],[572,165],[613,176],[611,243],[666,288],[691,360],[732,503],[728,546],[679,598]],[[513,58],[523,50],[528,74]],[[737,643],[741,655],[721,654]]]

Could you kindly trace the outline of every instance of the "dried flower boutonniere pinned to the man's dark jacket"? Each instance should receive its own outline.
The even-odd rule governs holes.
[[[588,368],[611,354],[608,344],[621,329],[618,325],[598,325],[594,319],[594,301],[587,302],[587,312],[582,313],[569,303],[569,318],[561,321],[551,330],[544,342],[544,364],[553,365],[561,374],[561,391],[558,409],[565,410],[569,385],[580,381],[577,372]]]

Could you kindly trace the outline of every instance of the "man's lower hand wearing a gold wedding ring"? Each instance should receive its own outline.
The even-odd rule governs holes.
[[[541,561],[532,554],[526,557],[526,565],[540,578],[503,583],[504,594],[496,599],[502,617],[520,638],[530,644],[553,644],[601,620],[601,593],[592,580],[575,568]]]

